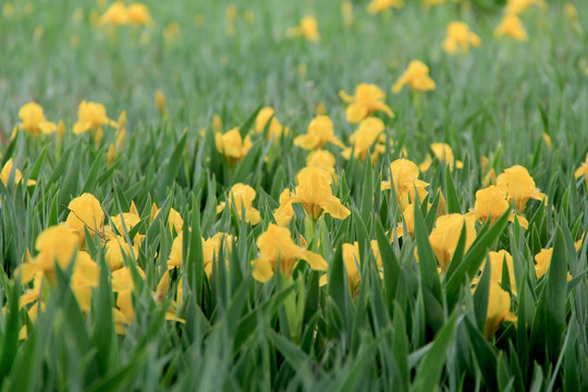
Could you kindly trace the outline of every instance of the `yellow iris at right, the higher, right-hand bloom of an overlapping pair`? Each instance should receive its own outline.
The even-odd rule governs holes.
[[[506,194],[509,203],[514,200],[516,210],[523,212],[529,199],[544,200],[547,196],[535,186],[527,169],[514,166],[497,177],[497,186]]]

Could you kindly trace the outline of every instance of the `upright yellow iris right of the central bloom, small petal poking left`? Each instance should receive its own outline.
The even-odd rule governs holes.
[[[416,194],[418,194],[420,201],[428,195],[425,187],[429,183],[418,180],[419,170],[415,162],[405,158],[396,159],[390,163],[390,173],[394,183],[396,199],[403,210],[415,200]],[[391,187],[390,181],[382,181],[382,191],[390,189]]]

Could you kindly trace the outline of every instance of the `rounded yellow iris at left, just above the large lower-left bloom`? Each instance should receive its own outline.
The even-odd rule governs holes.
[[[96,231],[102,232],[105,212],[100,201],[94,195],[85,193],[74,198],[68,205],[68,209],[70,213],[65,224],[77,234],[79,246],[84,247],[86,244],[86,226],[93,238],[96,237]]]

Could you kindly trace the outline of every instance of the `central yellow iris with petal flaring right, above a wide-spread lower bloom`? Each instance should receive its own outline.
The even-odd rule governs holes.
[[[347,218],[351,211],[333,196],[332,181],[331,174],[319,168],[304,168],[296,176],[298,185],[290,203],[302,204],[306,213],[314,220],[319,219],[323,212],[336,219]]]

